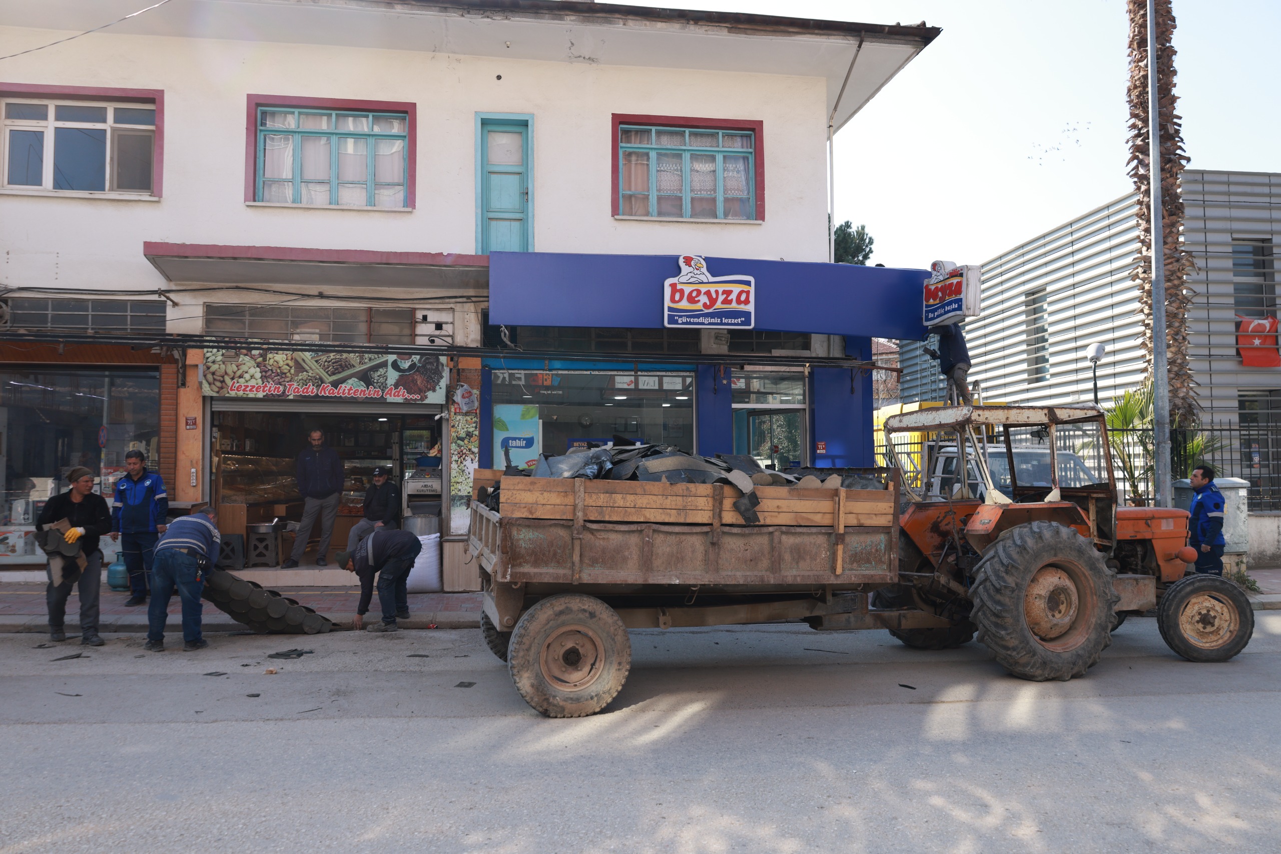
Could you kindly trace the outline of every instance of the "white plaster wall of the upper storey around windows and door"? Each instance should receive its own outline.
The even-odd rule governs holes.
[[[0,44],[40,41],[0,27]],[[826,260],[819,78],[99,33],[6,60],[0,81],[165,92],[161,201],[0,195],[10,287],[159,287],[143,241],[475,252],[477,111],[534,115],[537,251]],[[416,210],[247,206],[250,92],[416,102]],[[614,219],[612,113],[762,120],[766,222]]]

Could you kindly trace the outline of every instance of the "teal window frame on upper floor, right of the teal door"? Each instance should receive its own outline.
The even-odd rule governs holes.
[[[637,143],[637,142],[624,142],[624,133],[628,131],[647,131],[649,132],[649,145]],[[685,138],[685,145],[657,145],[658,133],[681,133]],[[702,133],[702,134],[716,134],[717,145],[712,146],[694,146],[689,143],[689,134]],[[725,147],[725,137],[747,137],[749,140],[749,147],[747,149],[733,149]],[[719,220],[728,222],[752,222],[756,218],[756,147],[757,140],[756,133],[751,129],[721,129],[721,128],[690,128],[690,127],[666,127],[661,124],[619,124],[619,138],[617,138],[617,175],[619,175],[619,197],[617,209],[619,215],[635,216],[635,214],[625,214],[628,210],[625,200],[628,196],[648,196],[648,214],[646,216],[653,219],[665,220],[678,220],[678,219],[711,219],[707,216],[693,216],[690,211],[690,181],[689,181],[689,157],[690,155],[715,155],[716,157],[716,218]],[[648,192],[628,192],[625,189],[625,174],[624,174],[624,155],[628,151],[647,151],[649,152],[649,189]],[[680,155],[681,164],[681,215],[680,216],[660,216],[658,215],[658,196],[675,196],[675,193],[660,193],[658,192],[658,156],[662,154],[678,154]],[[747,157],[747,196],[729,196],[729,198],[742,198],[743,210],[748,211],[748,216],[725,216],[725,155],[733,156],[746,156]]]

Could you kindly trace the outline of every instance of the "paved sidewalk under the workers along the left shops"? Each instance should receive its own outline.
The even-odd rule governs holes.
[[[329,617],[337,624],[350,625],[360,604],[360,588],[297,588],[282,589],[282,595],[297,600],[309,608]],[[147,630],[146,606],[126,607],[128,593],[117,593],[102,585],[99,617],[99,631],[142,632]],[[370,604],[369,618],[378,618],[378,594]],[[475,629],[480,625],[479,593],[410,593],[409,620],[397,621],[402,629]],[[169,602],[170,629],[178,625],[182,604],[178,597]],[[204,631],[242,631],[243,624],[236,622],[219,611],[213,603],[205,603]],[[74,593],[67,602],[67,631],[78,631],[79,597]],[[49,631],[49,615],[45,609],[44,584],[0,583],[0,632],[10,631]]]

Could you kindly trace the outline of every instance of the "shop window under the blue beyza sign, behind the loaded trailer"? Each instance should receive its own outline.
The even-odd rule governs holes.
[[[539,453],[632,442],[694,449],[692,373],[493,370],[493,465],[528,469]]]

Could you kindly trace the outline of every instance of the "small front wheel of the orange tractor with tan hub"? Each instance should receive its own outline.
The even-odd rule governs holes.
[[[1187,661],[1227,661],[1250,643],[1254,609],[1227,579],[1189,575],[1166,588],[1157,627],[1166,645]]]

